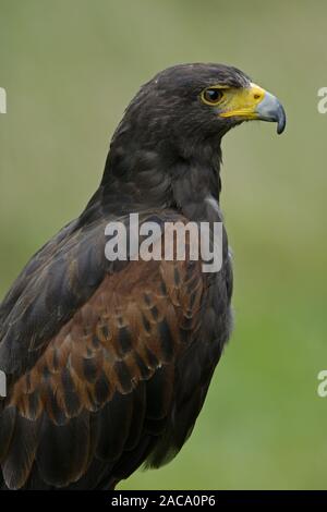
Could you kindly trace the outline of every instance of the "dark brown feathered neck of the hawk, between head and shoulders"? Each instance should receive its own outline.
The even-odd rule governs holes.
[[[190,220],[220,220],[220,145],[179,155],[162,148],[112,145],[99,190],[85,212],[99,204],[114,216],[173,208]],[[165,150],[162,150],[165,149]],[[90,216],[92,217],[92,216]]]

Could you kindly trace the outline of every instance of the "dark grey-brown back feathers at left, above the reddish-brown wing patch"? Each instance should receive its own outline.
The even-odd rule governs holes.
[[[69,224],[26,265],[0,306],[0,369],[15,377],[105,276],[105,227]]]

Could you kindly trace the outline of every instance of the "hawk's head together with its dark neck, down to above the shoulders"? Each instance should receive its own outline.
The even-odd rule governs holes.
[[[278,133],[286,125],[278,99],[242,71],[201,63],[168,68],[141,87],[126,108],[111,141],[101,185],[108,195],[116,191],[116,180],[121,194],[128,186],[123,183],[134,183],[123,196],[126,204],[145,196],[154,204],[169,204],[172,181],[185,175],[187,186],[194,182],[190,169],[197,169],[203,186],[219,182],[222,136],[253,120],[276,122]],[[147,194],[152,187],[155,192]],[[220,190],[220,184],[211,188]]]

